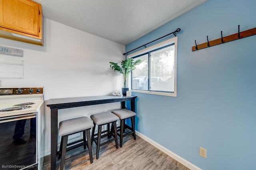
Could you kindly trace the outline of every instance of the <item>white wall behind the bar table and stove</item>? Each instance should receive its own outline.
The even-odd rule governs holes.
[[[3,79],[1,86],[44,86],[46,104],[50,98],[100,96],[121,90],[122,75],[115,73],[109,62],[124,59],[124,45],[48,19],[44,19],[44,41],[40,47],[0,38],[0,46],[24,51],[24,79]],[[63,109],[59,121],[118,107],[119,103],[113,103]],[[45,110],[45,148],[50,154],[50,109]]]

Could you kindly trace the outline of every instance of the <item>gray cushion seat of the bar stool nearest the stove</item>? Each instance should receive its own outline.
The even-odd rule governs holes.
[[[60,122],[59,135],[64,136],[76,133],[93,127],[93,122],[89,117],[77,117]]]

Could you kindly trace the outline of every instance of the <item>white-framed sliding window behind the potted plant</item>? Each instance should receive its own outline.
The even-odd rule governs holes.
[[[128,57],[142,62],[132,71],[133,92],[176,96],[177,37]]]

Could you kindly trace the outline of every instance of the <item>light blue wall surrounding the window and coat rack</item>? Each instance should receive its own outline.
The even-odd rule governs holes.
[[[178,27],[177,97],[133,93],[136,129],[204,170],[256,168],[256,35],[192,52],[198,44],[256,27],[255,0],[209,0],[126,51]],[[168,129],[168,131],[167,131]],[[207,159],[199,156],[207,150]]]

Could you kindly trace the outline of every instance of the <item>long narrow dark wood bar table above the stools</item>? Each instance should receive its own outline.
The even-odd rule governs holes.
[[[120,102],[121,108],[125,108],[125,102],[130,101],[131,110],[135,111],[135,98],[137,96],[89,96],[76,98],[50,99],[47,107],[51,109],[51,170],[56,169],[57,143],[58,143],[58,109],[71,107],[90,106]]]

